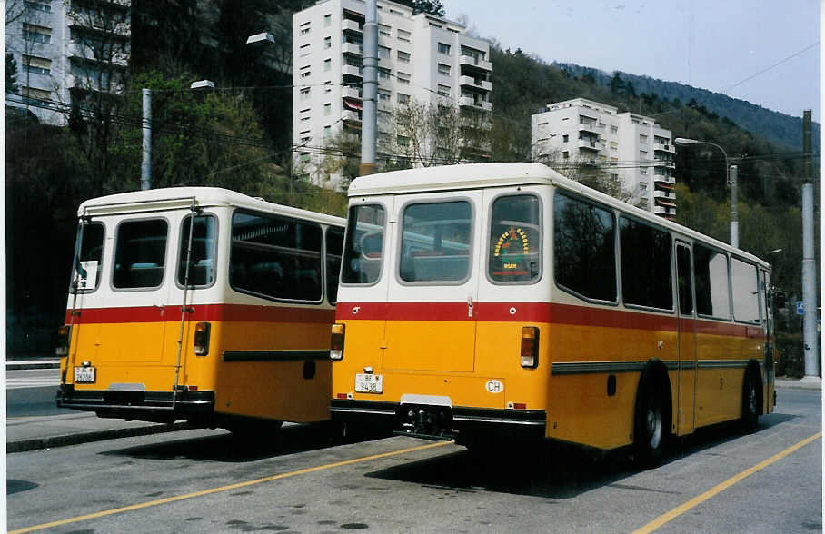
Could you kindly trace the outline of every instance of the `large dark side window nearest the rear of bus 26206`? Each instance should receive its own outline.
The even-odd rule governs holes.
[[[235,212],[229,284],[262,297],[321,301],[321,226]]]

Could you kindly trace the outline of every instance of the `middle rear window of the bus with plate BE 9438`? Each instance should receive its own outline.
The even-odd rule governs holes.
[[[403,282],[460,282],[470,274],[472,208],[465,201],[404,208]]]

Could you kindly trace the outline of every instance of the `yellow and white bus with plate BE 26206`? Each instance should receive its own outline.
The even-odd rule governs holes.
[[[58,406],[230,430],[329,419],[343,219],[209,187],[78,216]]]

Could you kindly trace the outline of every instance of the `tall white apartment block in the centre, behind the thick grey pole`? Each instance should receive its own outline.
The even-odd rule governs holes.
[[[397,111],[412,102],[457,106],[489,124],[490,44],[441,17],[412,15],[406,5],[377,6],[379,159],[410,153],[414,141],[398,127],[406,119]],[[293,143],[296,163],[315,183],[340,180],[321,168],[325,140],[360,134],[365,9],[363,0],[321,0],[293,15]],[[485,148],[468,135],[462,153],[483,157]]]

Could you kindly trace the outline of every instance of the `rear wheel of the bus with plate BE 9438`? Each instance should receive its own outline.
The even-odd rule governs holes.
[[[658,466],[670,435],[670,391],[665,378],[649,368],[642,373],[636,392],[633,423],[633,460],[636,465],[641,469]]]

